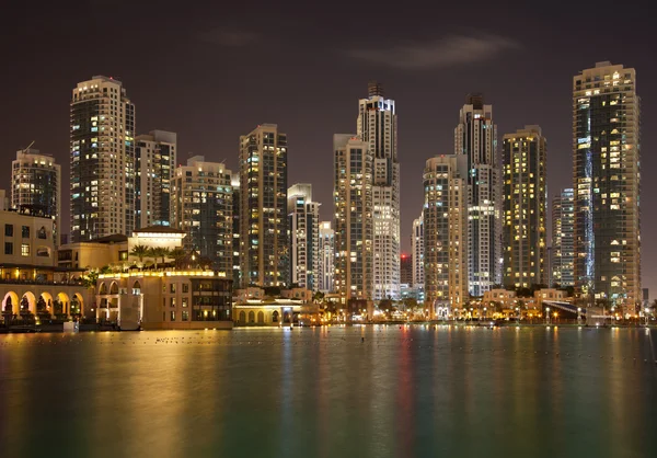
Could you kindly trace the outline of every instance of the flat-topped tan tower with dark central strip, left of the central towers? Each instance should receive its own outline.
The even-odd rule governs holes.
[[[240,137],[242,287],[289,283],[287,136],[262,124]]]

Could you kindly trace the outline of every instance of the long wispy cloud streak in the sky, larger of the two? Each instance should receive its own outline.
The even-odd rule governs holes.
[[[348,55],[390,67],[422,69],[477,62],[517,48],[520,48],[518,42],[497,35],[449,35],[434,41],[395,44],[387,48],[351,49]]]

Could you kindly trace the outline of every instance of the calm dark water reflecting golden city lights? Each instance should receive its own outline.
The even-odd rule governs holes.
[[[0,456],[656,457],[656,355],[638,329],[0,335]]]

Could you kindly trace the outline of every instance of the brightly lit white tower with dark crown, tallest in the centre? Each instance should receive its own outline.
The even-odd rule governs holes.
[[[400,163],[395,104],[381,84],[358,102],[358,136],[373,158],[373,298],[400,298]]]

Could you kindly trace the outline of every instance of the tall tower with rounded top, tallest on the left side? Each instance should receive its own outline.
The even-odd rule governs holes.
[[[70,118],[71,242],[135,229],[135,105],[120,81],[73,89]]]

